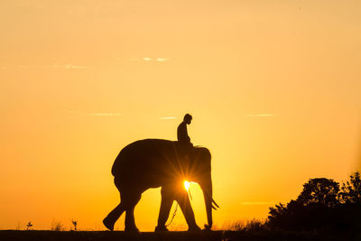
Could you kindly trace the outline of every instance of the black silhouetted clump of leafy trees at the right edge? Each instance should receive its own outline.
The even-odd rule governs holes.
[[[361,178],[357,171],[339,184],[315,178],[303,184],[296,200],[270,208],[267,225],[283,230],[361,230]]]

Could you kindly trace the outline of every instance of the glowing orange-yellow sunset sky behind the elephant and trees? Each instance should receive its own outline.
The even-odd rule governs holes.
[[[176,140],[186,113],[212,153],[216,227],[266,218],[310,178],[346,181],[361,168],[360,13],[356,0],[0,1],[0,229],[106,229],[116,155]],[[143,193],[141,231],[160,201]],[[180,212],[171,228],[186,229]]]

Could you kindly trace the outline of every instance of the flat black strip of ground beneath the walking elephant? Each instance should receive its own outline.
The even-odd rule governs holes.
[[[1,241],[120,241],[120,240],[140,240],[140,241],[188,241],[188,240],[209,240],[209,241],[258,241],[258,240],[361,240],[361,235],[351,234],[314,234],[300,232],[275,232],[275,231],[202,231],[202,232],[167,232],[140,234],[129,234],[122,231],[15,231],[1,230]]]

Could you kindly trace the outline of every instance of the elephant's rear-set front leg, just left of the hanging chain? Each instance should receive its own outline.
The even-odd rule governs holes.
[[[168,231],[167,227],[165,227],[165,222],[167,221],[170,211],[171,204],[173,203],[174,195],[171,194],[171,190],[167,188],[162,188],[162,201],[161,201],[161,209],[159,211],[158,218],[158,226],[155,227],[155,231]]]

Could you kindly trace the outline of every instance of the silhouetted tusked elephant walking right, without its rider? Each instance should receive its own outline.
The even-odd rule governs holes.
[[[134,222],[134,207],[142,193],[151,188],[162,187],[161,209],[155,231],[168,231],[165,223],[176,200],[187,221],[188,230],[200,230],[190,206],[188,192],[183,183],[199,183],[206,204],[208,225],[212,227],[212,208],[218,204],[212,198],[211,155],[205,147],[192,147],[190,154],[181,155],[178,142],[162,139],[145,139],[128,144],[116,157],[112,167],[116,188],[120,192],[120,203],[104,218],[109,230],[125,211],[125,231],[138,232]],[[215,207],[216,206],[216,207]],[[219,208],[219,207],[218,207]]]

